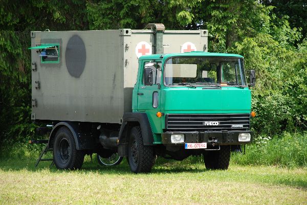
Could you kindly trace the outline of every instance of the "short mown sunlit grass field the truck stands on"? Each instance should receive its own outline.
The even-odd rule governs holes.
[[[152,173],[133,174],[126,161],[101,167],[86,157],[78,171],[34,163],[0,161],[1,204],[307,204],[307,168],[208,171],[201,158],[158,158]]]

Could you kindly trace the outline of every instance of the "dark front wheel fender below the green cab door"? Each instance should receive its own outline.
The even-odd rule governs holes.
[[[147,114],[142,112],[124,113],[123,123],[119,131],[119,142],[118,142],[119,145],[126,145],[128,143],[126,135],[128,134],[127,128],[129,127],[128,126],[129,122],[138,122],[140,124],[144,145],[153,145],[153,135],[149,124],[149,120],[147,118]]]

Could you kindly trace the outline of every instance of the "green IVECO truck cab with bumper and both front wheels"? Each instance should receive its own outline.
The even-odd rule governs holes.
[[[132,126],[129,140],[119,139],[133,172],[149,172],[156,154],[175,160],[203,154],[208,169],[227,169],[231,146],[252,140],[251,91],[240,55],[142,56],[132,106],[124,124],[133,115],[143,115],[143,124],[148,119],[147,128]]]

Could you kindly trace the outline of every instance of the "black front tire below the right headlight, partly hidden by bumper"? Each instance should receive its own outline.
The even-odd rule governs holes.
[[[230,146],[220,146],[218,151],[204,151],[204,162],[207,169],[226,170],[230,161]]]

